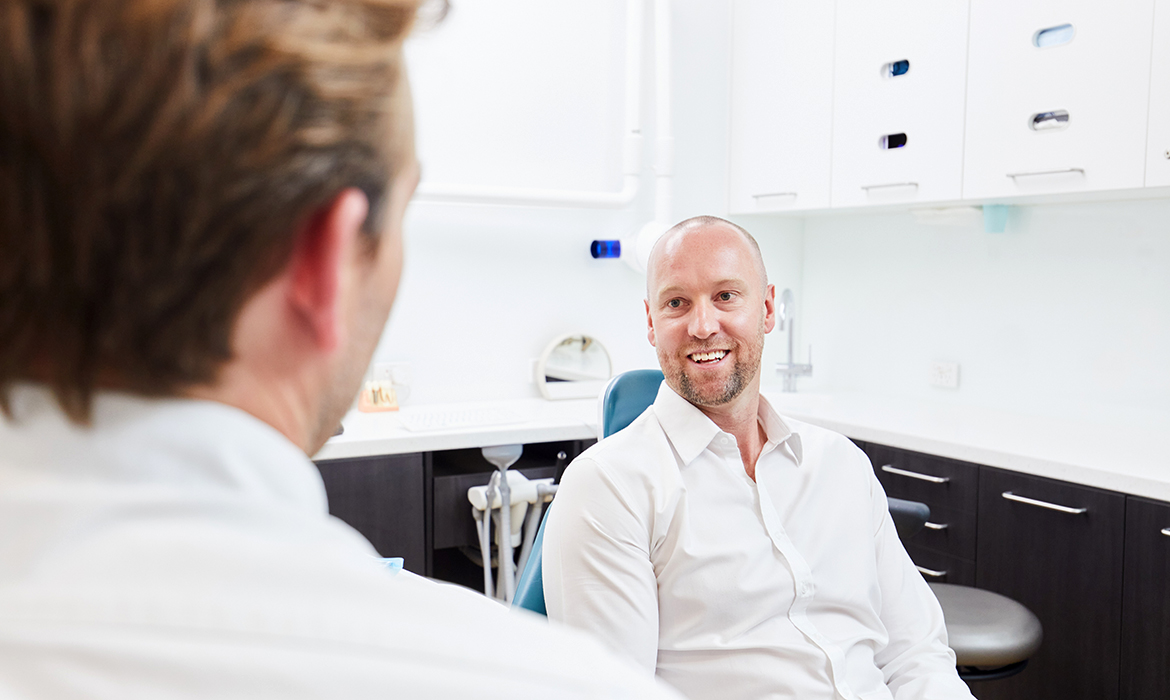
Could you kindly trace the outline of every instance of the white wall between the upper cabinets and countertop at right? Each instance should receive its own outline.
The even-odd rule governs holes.
[[[1002,234],[805,221],[801,390],[1062,417],[1170,411],[1170,201],[1016,207]],[[958,390],[929,386],[931,361]]]

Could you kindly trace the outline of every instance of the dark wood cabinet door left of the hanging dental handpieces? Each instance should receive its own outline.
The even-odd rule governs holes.
[[[421,453],[317,464],[329,513],[362,533],[381,556],[428,576],[426,460]]]

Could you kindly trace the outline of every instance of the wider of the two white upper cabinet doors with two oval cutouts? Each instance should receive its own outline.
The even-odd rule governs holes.
[[[972,0],[963,195],[1141,187],[1152,19],[1152,0]]]

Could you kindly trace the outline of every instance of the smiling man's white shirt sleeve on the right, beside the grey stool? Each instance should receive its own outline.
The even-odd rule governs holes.
[[[938,599],[902,547],[886,492],[872,476],[881,620],[889,643],[874,656],[895,700],[973,700],[955,670]]]

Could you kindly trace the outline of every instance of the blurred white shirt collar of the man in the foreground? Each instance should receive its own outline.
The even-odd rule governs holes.
[[[304,452],[226,404],[102,392],[90,426],[78,426],[48,390],[22,385],[12,407],[14,419],[0,417],[0,476],[212,489],[328,512],[321,474]]]

